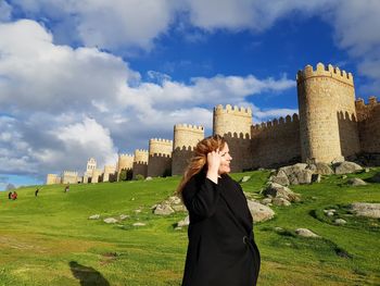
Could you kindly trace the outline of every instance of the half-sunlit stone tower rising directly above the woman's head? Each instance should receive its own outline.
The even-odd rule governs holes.
[[[231,171],[241,172],[252,167],[251,151],[252,111],[227,104],[214,108],[213,133],[224,136],[232,157]]]

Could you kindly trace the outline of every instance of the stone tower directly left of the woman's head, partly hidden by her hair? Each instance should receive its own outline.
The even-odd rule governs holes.
[[[204,138],[203,126],[176,124],[174,126],[172,175],[182,175],[193,149]]]

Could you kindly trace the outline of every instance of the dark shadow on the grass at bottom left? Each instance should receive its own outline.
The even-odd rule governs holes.
[[[76,261],[71,261],[68,265],[73,276],[79,281],[81,286],[110,286],[103,275],[93,268],[80,265]]]

